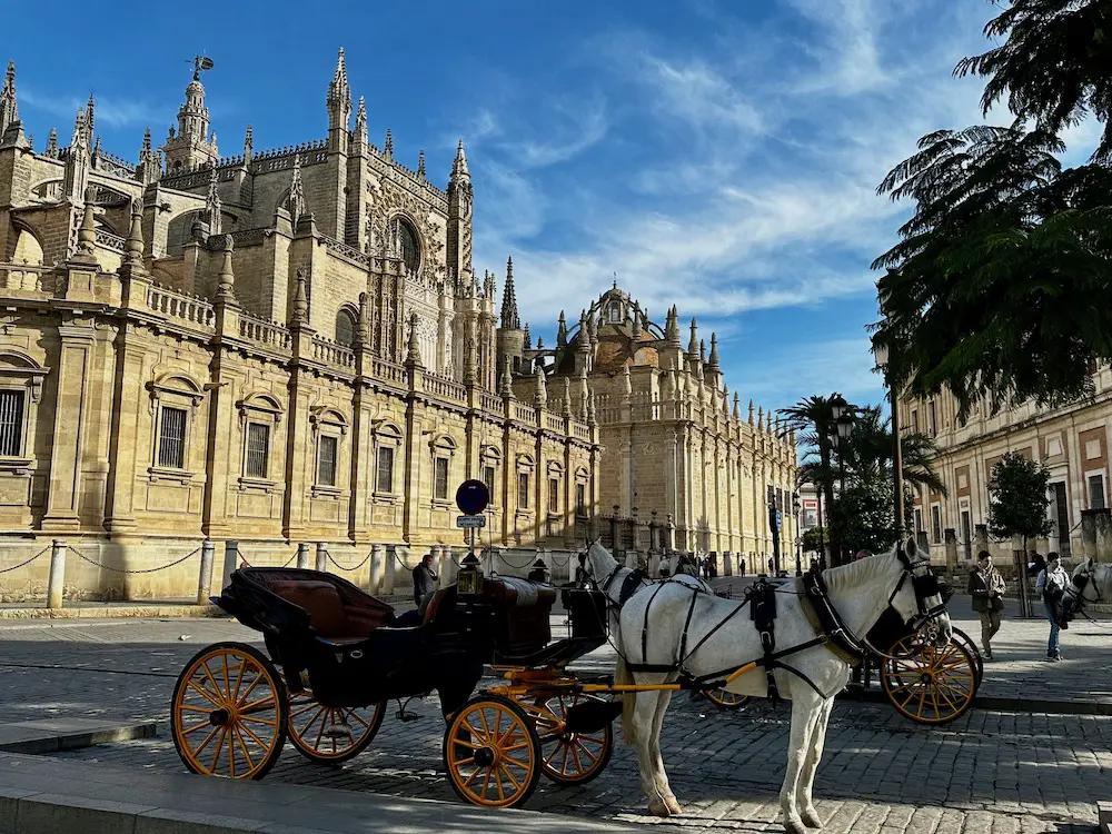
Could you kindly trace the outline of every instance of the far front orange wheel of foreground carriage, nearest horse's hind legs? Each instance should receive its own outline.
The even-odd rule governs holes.
[[[537,698],[535,704],[522,704],[533,716],[540,738],[540,770],[553,782],[582,785],[595,778],[609,764],[614,753],[614,732],[609,724],[597,733],[567,732],[568,707],[587,701],[604,698],[572,693]]]

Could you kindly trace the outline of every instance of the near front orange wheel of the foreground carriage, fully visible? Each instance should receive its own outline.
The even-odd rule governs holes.
[[[459,798],[509,808],[533,794],[540,777],[540,739],[520,706],[479,695],[451,716],[444,734],[444,764]]]

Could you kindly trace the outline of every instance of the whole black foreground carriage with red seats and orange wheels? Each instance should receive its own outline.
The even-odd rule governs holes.
[[[568,663],[606,641],[594,590],[566,588],[569,637],[552,642],[556,588],[464,572],[418,614],[345,579],[297,568],[244,568],[215,602],[264,635],[266,653],[218,643],[186,665],[173,691],[173,743],[193,773],[261,778],[287,737],[307,758],[339,763],[366,749],[386,703],[436,692],[443,756],[455,792],[476,805],[528,800],[543,773],[587,782],[609,762],[617,705]],[[503,682],[474,695],[493,667]]]

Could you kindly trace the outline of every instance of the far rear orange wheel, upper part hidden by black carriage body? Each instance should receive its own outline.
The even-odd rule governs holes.
[[[385,716],[385,703],[330,707],[305,689],[289,696],[289,741],[310,762],[339,764],[367,749]]]

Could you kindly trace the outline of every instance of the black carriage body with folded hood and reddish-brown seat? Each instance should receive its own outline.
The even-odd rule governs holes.
[[[483,674],[481,652],[463,639],[455,587],[439,593],[424,619],[394,608],[351,583],[300,568],[244,568],[217,604],[264,634],[289,688],[301,673],[325,706],[368,706],[437,691],[445,713],[470,697]],[[431,607],[431,606],[430,606]]]

